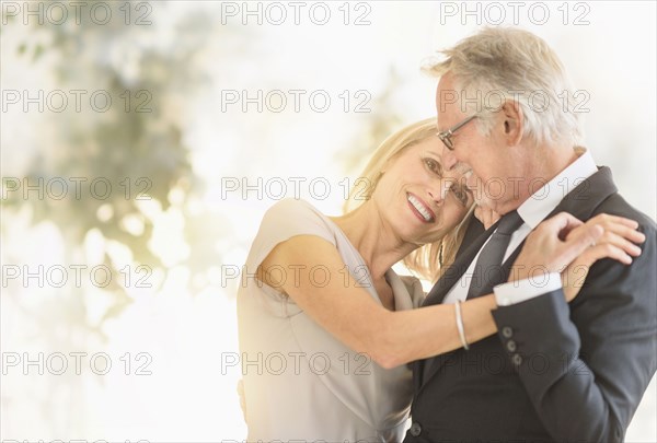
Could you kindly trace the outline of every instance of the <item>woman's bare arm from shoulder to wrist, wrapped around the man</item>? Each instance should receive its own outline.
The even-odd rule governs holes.
[[[269,268],[273,271],[267,276]],[[453,305],[388,311],[359,288],[335,246],[321,237],[298,235],[280,243],[261,269],[267,284],[287,293],[338,340],[383,368],[461,347]],[[286,270],[285,278],[280,277],[281,269]],[[462,305],[469,342],[495,333],[491,315],[495,306],[492,295]]]

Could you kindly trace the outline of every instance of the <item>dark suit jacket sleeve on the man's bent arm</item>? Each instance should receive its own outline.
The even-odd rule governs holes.
[[[596,263],[579,295],[549,292],[493,312],[545,429],[558,441],[622,441],[657,366],[657,249],[652,221],[630,266]]]

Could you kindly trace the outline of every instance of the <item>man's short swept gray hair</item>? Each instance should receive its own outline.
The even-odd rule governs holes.
[[[491,131],[489,112],[503,100],[515,100],[525,114],[529,139],[550,145],[581,142],[570,82],[556,54],[540,37],[518,28],[487,27],[439,54],[445,58],[429,61],[424,70],[436,77],[453,75],[462,110],[481,113],[476,119],[481,133]]]

